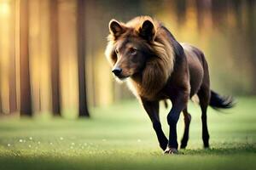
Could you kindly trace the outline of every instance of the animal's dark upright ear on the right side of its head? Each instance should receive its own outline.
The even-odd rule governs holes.
[[[155,29],[154,24],[150,20],[145,20],[143,22],[143,26],[139,30],[139,34],[141,37],[151,42],[154,41]]]

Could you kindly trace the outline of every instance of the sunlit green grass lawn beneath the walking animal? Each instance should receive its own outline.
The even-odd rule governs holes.
[[[209,109],[209,150],[202,149],[200,108],[189,104],[189,145],[177,156],[162,154],[137,101],[91,109],[90,120],[3,119],[0,169],[254,169],[256,98],[238,100],[226,113]],[[167,133],[167,111],[161,107],[160,112]],[[181,139],[183,116],[177,127]]]

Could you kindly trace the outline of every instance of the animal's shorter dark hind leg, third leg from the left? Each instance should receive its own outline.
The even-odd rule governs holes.
[[[189,140],[189,125],[191,122],[191,115],[189,114],[187,108],[185,108],[183,110],[183,116],[184,116],[184,124],[185,124],[185,128],[184,128],[184,133],[183,133],[183,139],[181,141],[181,146],[180,148],[186,148],[187,144],[188,144],[188,140]]]

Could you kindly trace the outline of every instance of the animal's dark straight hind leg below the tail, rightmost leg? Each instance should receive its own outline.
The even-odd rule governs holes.
[[[209,147],[209,133],[207,127],[207,106],[209,105],[210,100],[210,89],[206,87],[201,87],[198,92],[198,97],[200,99],[201,106],[201,122],[202,122],[202,139],[204,147]]]

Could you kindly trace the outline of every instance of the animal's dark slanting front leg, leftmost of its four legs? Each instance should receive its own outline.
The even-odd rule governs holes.
[[[147,101],[142,99],[143,107],[147,111],[148,116],[153,124],[154,131],[162,150],[166,150],[168,139],[162,130],[160,118],[159,118],[159,101]]]

